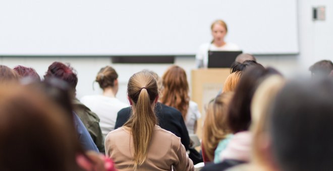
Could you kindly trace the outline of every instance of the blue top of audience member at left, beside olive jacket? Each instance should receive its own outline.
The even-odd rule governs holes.
[[[78,115],[75,112],[73,112],[73,119],[76,131],[78,133],[78,138],[83,149],[99,152],[87,128],[83,125],[81,119],[78,117]]]

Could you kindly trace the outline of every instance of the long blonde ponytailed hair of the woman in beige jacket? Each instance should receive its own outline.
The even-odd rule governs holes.
[[[131,129],[134,170],[137,170],[147,158],[148,145],[157,123],[152,106],[158,97],[156,80],[148,72],[135,73],[129,79],[127,93],[133,102],[133,115],[124,126]]]

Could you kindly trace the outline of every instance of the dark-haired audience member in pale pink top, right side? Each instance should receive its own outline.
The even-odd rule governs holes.
[[[235,90],[227,112],[227,125],[234,136],[225,150],[221,151],[220,161],[234,159],[248,162],[250,158],[251,124],[250,105],[252,96],[259,83],[268,75],[279,73],[272,68],[251,66],[247,68]]]

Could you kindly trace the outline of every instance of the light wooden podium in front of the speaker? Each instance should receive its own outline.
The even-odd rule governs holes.
[[[201,139],[205,109],[210,100],[222,90],[230,68],[202,68],[191,71],[191,100],[198,104],[201,118],[197,121],[196,134]]]

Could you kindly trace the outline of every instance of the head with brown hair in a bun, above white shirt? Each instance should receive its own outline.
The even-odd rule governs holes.
[[[111,66],[102,67],[97,73],[95,81],[102,90],[113,88],[116,89],[115,93],[118,92],[118,73]]]

